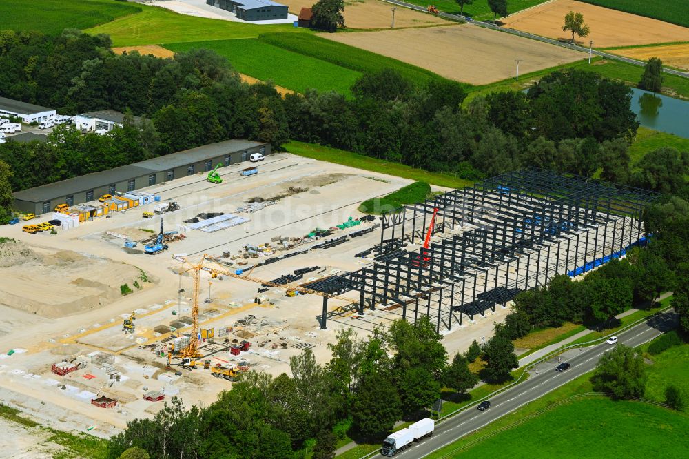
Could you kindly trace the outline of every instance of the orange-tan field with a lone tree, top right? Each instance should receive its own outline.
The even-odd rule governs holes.
[[[580,41],[588,45],[588,41],[593,40],[595,48],[689,41],[689,28],[574,0],[544,3],[501,21],[513,29],[569,40],[571,32],[564,32],[562,25],[570,11],[584,14],[590,34]]]

